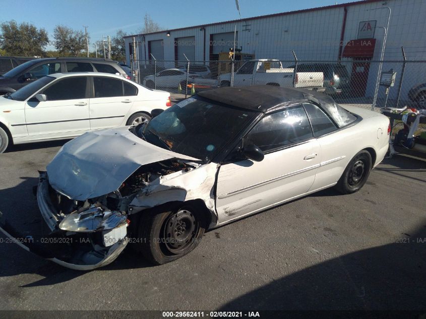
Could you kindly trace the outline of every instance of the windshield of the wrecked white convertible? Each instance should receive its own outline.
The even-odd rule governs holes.
[[[154,145],[209,161],[258,114],[192,97],[154,117],[143,135]]]

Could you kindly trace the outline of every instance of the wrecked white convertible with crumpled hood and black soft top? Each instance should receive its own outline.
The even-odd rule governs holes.
[[[128,243],[174,261],[207,229],[335,186],[359,190],[388,149],[389,120],[312,91],[221,88],[137,126],[68,142],[40,173],[37,201],[52,242],[19,244],[88,270]],[[10,237],[16,231],[2,222]],[[73,240],[71,240],[73,239]]]

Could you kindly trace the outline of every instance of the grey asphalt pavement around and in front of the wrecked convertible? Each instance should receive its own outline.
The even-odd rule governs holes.
[[[0,154],[0,211],[24,234],[42,223],[37,170],[65,142]],[[397,155],[356,194],[327,189],[214,229],[162,266],[126,248],[73,271],[2,235],[0,309],[424,309],[425,189],[426,161]]]

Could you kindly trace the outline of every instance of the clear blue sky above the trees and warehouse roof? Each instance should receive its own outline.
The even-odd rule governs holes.
[[[339,0],[337,3],[351,1]],[[100,40],[102,34],[113,36],[117,29],[134,33],[142,28],[146,13],[166,29],[238,18],[235,0],[26,0],[12,6],[10,1],[0,0],[0,4],[1,8],[7,8],[2,10],[0,21],[31,22],[45,28],[50,40],[53,40],[53,29],[57,24],[81,30],[85,25],[92,43]],[[334,4],[335,0],[239,0],[242,18]]]

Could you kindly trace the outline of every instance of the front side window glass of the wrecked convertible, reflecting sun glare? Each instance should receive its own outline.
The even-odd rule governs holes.
[[[266,115],[246,136],[245,144],[255,144],[263,152],[312,138],[311,125],[302,105]]]

